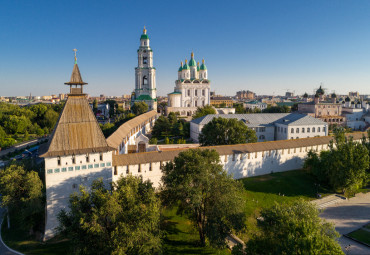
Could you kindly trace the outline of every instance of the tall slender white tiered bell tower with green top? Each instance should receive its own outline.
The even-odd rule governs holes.
[[[135,67],[135,93],[131,98],[134,102],[145,102],[149,110],[157,110],[157,88],[155,68],[153,67],[153,50],[149,45],[149,36],[144,27],[137,50],[138,66]]]

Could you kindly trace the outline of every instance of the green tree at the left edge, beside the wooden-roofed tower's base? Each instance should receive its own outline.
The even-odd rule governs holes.
[[[40,223],[43,211],[42,181],[35,171],[11,165],[0,171],[1,206],[7,207],[10,219],[30,229]]]

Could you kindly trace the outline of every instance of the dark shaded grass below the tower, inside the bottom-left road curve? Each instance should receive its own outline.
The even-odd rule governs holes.
[[[1,236],[3,241],[10,248],[20,251],[27,255],[38,255],[38,254],[56,254],[66,255],[71,254],[69,250],[68,240],[60,240],[53,238],[46,243],[36,241],[30,238],[24,231],[20,230],[16,224],[11,223],[10,229],[7,228],[6,217],[4,224],[1,229]]]

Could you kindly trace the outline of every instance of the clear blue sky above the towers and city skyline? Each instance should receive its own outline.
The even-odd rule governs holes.
[[[146,25],[157,91],[180,61],[205,59],[211,88],[234,95],[370,94],[370,1],[0,0],[0,96],[68,92],[73,51],[91,95],[134,89]]]

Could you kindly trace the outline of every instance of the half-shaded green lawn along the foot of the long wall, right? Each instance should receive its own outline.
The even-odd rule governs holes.
[[[257,220],[262,208],[274,205],[274,202],[292,202],[299,198],[316,199],[315,179],[305,170],[279,172],[268,175],[248,177],[239,180],[243,183],[246,198],[247,219],[246,233],[238,236],[247,241],[257,230]],[[329,191],[319,187],[318,192],[328,195]],[[280,195],[279,195],[280,194]]]

